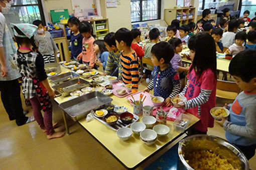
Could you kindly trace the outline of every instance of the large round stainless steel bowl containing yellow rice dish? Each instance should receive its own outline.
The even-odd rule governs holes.
[[[186,156],[195,150],[212,150],[222,158],[226,158],[234,167],[240,166],[241,170],[249,169],[249,163],[245,155],[228,141],[213,135],[196,134],[188,136],[179,142],[179,157],[188,170],[193,170],[193,168],[186,162]]]

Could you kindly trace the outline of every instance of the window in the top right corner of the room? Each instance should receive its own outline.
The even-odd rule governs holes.
[[[243,12],[244,10],[249,10],[250,14],[249,14],[249,18],[254,17],[254,13],[256,11],[256,0],[240,0],[240,16],[243,16]]]

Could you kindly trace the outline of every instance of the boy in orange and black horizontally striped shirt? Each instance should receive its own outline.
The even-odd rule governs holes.
[[[114,38],[117,48],[121,51],[122,81],[125,84],[132,84],[132,93],[135,93],[138,91],[139,62],[136,52],[131,47],[132,32],[127,28],[120,28],[115,32]]]

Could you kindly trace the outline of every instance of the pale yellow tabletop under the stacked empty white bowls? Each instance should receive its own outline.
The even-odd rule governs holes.
[[[66,69],[62,69],[62,71],[65,70]],[[129,111],[133,112],[133,106],[125,97],[119,98],[115,95],[111,95],[110,97],[113,98],[112,104],[124,105],[128,108]],[[60,96],[56,97],[55,101],[57,103],[61,103],[66,101],[67,98],[68,97]],[[188,128],[190,128],[192,125],[199,121],[199,118],[192,114],[190,115],[192,116],[192,119]],[[65,113],[63,113],[63,118],[66,122]],[[138,121],[141,121],[141,117]],[[180,133],[174,130],[173,121],[167,121],[167,125],[170,127],[170,133],[167,136],[159,137],[155,144],[148,146],[140,140],[140,135],[135,134],[133,134],[129,140],[122,141],[116,135],[116,131],[110,129],[96,119],[87,122],[85,118],[82,118],[78,120],[78,123],[80,123],[83,128],[85,128],[126,168],[136,168],[142,162],[147,160],[149,157],[151,157],[185,133]],[[67,125],[66,128],[68,129]]]

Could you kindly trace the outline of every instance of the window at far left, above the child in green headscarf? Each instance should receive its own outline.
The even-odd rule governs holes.
[[[11,23],[32,23],[36,19],[45,23],[41,0],[14,0],[10,12],[4,15]]]

